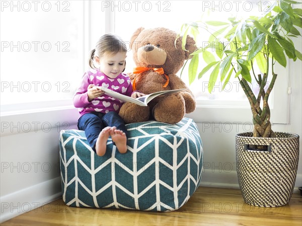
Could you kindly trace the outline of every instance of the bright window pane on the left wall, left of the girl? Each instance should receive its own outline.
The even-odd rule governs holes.
[[[83,9],[83,1],[1,1],[2,107],[72,98],[84,72]]]

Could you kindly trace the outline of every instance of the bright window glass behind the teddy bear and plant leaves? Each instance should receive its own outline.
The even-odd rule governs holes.
[[[132,34],[131,32],[129,34],[129,31],[134,31],[138,27],[161,26],[178,32],[184,23],[216,21],[232,16],[260,15],[262,10],[270,5],[270,1],[142,1],[136,4],[118,1],[115,5],[111,5],[111,10],[115,10],[115,32],[123,35],[125,40],[129,40],[129,35]],[[131,23],[128,22],[125,26],[125,21],[131,21]],[[209,32],[204,30],[200,43],[198,43],[199,46],[206,44]],[[128,57],[132,57],[131,52]],[[130,62],[127,68],[131,70],[133,66]],[[201,71],[204,66],[199,65],[198,70]],[[186,72],[187,69],[184,69],[181,78],[186,84],[189,84]],[[226,104],[232,100],[232,105],[249,106],[238,80],[230,81],[224,91],[222,91],[222,84],[217,83],[213,92],[209,94],[207,91],[208,77],[209,73],[190,86],[200,104],[221,105],[221,103]],[[210,102],[205,102],[206,100],[210,100]]]

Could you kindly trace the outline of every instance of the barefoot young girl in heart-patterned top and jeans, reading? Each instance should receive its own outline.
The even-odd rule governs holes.
[[[105,155],[109,136],[118,151],[126,153],[127,129],[118,115],[123,102],[105,95],[96,86],[133,98],[144,95],[140,92],[132,93],[130,79],[122,73],[126,52],[126,45],[118,36],[102,36],[90,53],[89,65],[92,69],[84,73],[82,85],[73,97],[74,107],[80,111],[78,128],[85,130],[87,140],[98,156]]]

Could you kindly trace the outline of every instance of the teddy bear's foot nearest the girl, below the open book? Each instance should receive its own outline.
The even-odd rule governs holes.
[[[119,116],[126,124],[144,122],[149,119],[149,107],[142,107],[137,104],[125,103],[119,112]]]

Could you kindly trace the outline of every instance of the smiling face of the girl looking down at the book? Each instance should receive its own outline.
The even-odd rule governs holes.
[[[100,71],[111,79],[115,79],[125,68],[126,52],[117,52],[116,54],[104,53],[102,57],[95,57],[100,64]]]

